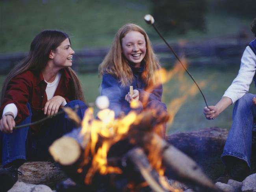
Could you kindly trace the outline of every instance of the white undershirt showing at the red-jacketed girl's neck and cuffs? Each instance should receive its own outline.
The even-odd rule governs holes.
[[[58,87],[60,78],[61,78],[61,73],[58,72],[56,75],[56,78],[54,79],[54,81],[52,81],[52,83],[48,83],[47,81],[45,81],[47,83],[46,89],[45,89],[47,100],[50,100],[51,98],[53,98],[54,93]],[[65,100],[63,103],[61,103],[61,106],[65,106],[66,104],[67,102]],[[18,109],[14,103],[9,103],[4,107],[2,116],[4,116],[4,114],[6,114],[7,112],[13,113],[15,118],[18,114]]]

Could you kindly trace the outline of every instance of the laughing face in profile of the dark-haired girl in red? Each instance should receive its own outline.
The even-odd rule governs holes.
[[[55,51],[51,51],[50,59],[52,59],[55,67],[65,68],[72,66],[72,55],[75,52],[70,46],[69,39],[65,39]]]

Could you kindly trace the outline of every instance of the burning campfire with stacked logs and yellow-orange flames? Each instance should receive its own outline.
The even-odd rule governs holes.
[[[131,103],[131,107],[136,106],[136,102]],[[82,189],[182,191],[169,185],[168,176],[196,191],[220,191],[191,158],[161,137],[169,114],[131,111],[115,119],[114,112],[105,107],[97,118],[89,107],[82,122],[71,109],[65,109],[81,124],[80,133],[76,138],[61,137],[49,148],[54,160]]]

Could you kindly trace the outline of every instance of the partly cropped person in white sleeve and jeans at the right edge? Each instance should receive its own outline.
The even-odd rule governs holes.
[[[251,24],[256,37],[256,18]],[[248,93],[252,80],[255,81],[256,39],[245,48],[237,77],[215,106],[204,107],[204,115],[213,120],[228,106],[234,105],[233,122],[228,133],[221,160],[226,166],[222,177],[216,181],[227,183],[228,179],[243,181],[250,172],[252,129],[256,118],[256,95]],[[255,81],[256,83],[256,81]]]

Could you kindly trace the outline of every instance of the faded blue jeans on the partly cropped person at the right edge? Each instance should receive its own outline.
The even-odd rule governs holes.
[[[256,95],[247,93],[234,106],[233,123],[221,155],[224,164],[225,156],[233,156],[247,162],[250,168],[252,129],[256,117],[256,105],[252,104],[254,96]]]

